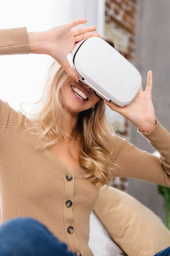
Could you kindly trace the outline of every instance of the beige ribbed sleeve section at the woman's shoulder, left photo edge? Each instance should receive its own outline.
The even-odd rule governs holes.
[[[22,125],[23,114],[15,111],[8,102],[0,99],[0,148],[9,140],[11,135]]]

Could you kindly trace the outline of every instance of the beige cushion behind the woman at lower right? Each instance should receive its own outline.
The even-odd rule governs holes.
[[[111,186],[100,189],[94,212],[128,256],[153,256],[170,246],[170,230],[136,198]]]

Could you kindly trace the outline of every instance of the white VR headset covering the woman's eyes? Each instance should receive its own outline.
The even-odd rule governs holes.
[[[68,61],[79,80],[99,98],[121,107],[132,102],[142,85],[136,67],[102,38],[79,41]]]

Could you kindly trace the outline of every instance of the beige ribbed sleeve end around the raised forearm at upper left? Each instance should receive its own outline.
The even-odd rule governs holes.
[[[0,55],[29,54],[26,27],[0,29]]]

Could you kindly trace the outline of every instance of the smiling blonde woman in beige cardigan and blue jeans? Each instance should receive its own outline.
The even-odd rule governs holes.
[[[136,98],[124,108],[99,99],[78,81],[67,60],[77,41],[100,36],[87,33],[96,27],[72,29],[86,21],[45,32],[27,32],[26,27],[0,30],[1,55],[35,53],[55,59],[37,102],[41,109],[33,118],[0,100],[1,223],[7,221],[0,228],[3,255],[11,253],[9,244],[15,248],[13,256],[34,255],[35,250],[35,255],[46,255],[46,250],[48,255],[72,255],[63,247],[59,251],[59,239],[74,255],[92,256],[89,218],[100,186],[117,176],[170,186],[170,134],[155,116],[152,72],[146,90],[141,85]],[[133,122],[160,158],[116,136],[105,117],[104,103]],[[19,217],[28,219],[9,221]]]

